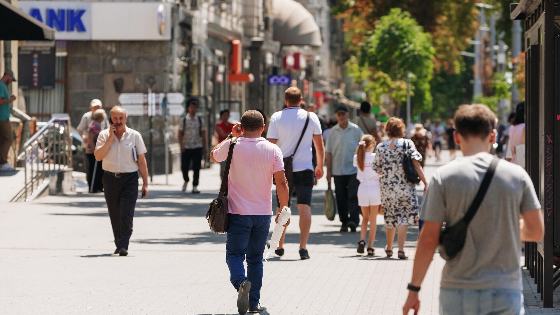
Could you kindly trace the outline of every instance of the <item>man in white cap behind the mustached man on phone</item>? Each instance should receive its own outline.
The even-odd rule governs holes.
[[[84,166],[86,169],[86,179],[87,179],[87,187],[91,188],[91,182],[94,178],[94,169],[95,169],[95,155],[94,155],[94,143],[91,143],[90,138],[88,137],[90,123],[94,120],[93,114],[97,109],[100,109],[102,106],[101,101],[98,99],[91,100],[90,102],[90,111],[83,114],[82,120],[78,127],[76,128],[78,134],[82,136],[82,147],[86,154],[86,159],[84,160]],[[105,119],[101,123],[102,129],[109,128],[109,119],[107,115],[105,115]],[[101,192],[101,191],[93,191],[93,192]]]

